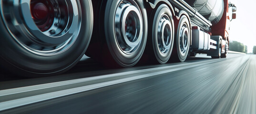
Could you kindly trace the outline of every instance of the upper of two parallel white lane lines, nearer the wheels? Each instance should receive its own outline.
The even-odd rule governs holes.
[[[148,71],[153,71],[153,70],[160,70],[160,69],[165,69],[165,68],[173,68],[173,67],[178,67],[178,66],[190,66],[191,64],[201,64],[201,63],[207,64],[208,62],[215,62],[215,61],[221,61],[221,60],[216,59],[214,61],[213,60],[207,60],[207,61],[180,64],[180,65],[173,65],[173,66],[162,66],[162,67],[155,67],[155,68],[148,68],[148,69],[142,69],[142,70],[135,70],[135,71],[109,74],[109,75],[86,77],[86,78],[73,79],[73,80],[67,80],[67,81],[61,81],[61,82],[53,82],[53,83],[48,83],[48,84],[32,85],[32,86],[25,86],[25,87],[13,88],[13,89],[6,89],[6,90],[0,90],[0,96],[18,94],[18,93],[35,91],[35,90],[46,89],[46,88],[57,87],[57,86],[63,86],[63,85],[77,84],[77,83],[82,83],[82,82],[87,82],[87,81],[92,81],[92,80],[98,80],[98,79],[103,79],[103,78],[110,78],[110,77],[115,77],[115,76],[132,75],[132,74],[136,74],[136,73],[148,72]]]

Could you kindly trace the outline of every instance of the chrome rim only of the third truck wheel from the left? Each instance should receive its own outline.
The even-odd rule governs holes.
[[[169,17],[164,14],[157,26],[157,44],[162,54],[168,53],[171,48],[171,41],[173,38],[172,25]]]

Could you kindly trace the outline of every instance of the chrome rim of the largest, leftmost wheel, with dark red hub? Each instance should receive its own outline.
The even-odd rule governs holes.
[[[80,32],[81,13],[79,0],[3,0],[1,4],[10,35],[41,56],[58,55],[72,46]]]

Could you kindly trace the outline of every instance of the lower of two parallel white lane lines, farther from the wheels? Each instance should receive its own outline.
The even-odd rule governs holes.
[[[24,98],[10,100],[10,101],[6,101],[6,102],[1,102],[0,103],[0,111],[23,106],[26,104],[37,103],[37,102],[41,102],[41,101],[45,101],[45,100],[49,100],[49,99],[53,99],[53,98],[57,98],[57,97],[61,97],[61,96],[81,93],[81,92],[85,92],[88,90],[97,89],[97,88],[101,88],[101,87],[105,87],[105,86],[109,86],[109,85],[116,85],[116,84],[129,82],[129,81],[133,81],[133,80],[137,80],[137,79],[142,79],[145,77],[151,77],[151,76],[161,75],[164,73],[170,73],[170,72],[183,70],[183,69],[191,68],[191,67],[195,67],[195,66],[201,66],[204,64],[205,63],[192,65],[192,66],[184,66],[184,67],[174,68],[174,69],[170,69],[170,70],[164,70],[164,71],[159,71],[159,72],[154,72],[154,73],[149,73],[149,74],[132,76],[132,77],[127,77],[127,78],[123,78],[123,79],[102,82],[102,83],[98,83],[98,84],[86,85],[86,86],[76,87],[76,88],[72,88],[72,89],[51,92],[51,93],[47,93],[47,94],[34,95],[34,96],[24,97]]]

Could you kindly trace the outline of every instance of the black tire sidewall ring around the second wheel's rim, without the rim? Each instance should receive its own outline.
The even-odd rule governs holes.
[[[142,57],[147,40],[147,14],[143,0],[133,0],[141,8],[143,18],[143,38],[140,46],[131,54],[125,54],[119,47],[114,30],[115,12],[122,0],[108,0],[105,9],[104,30],[109,51],[114,60],[123,67],[134,66]]]

